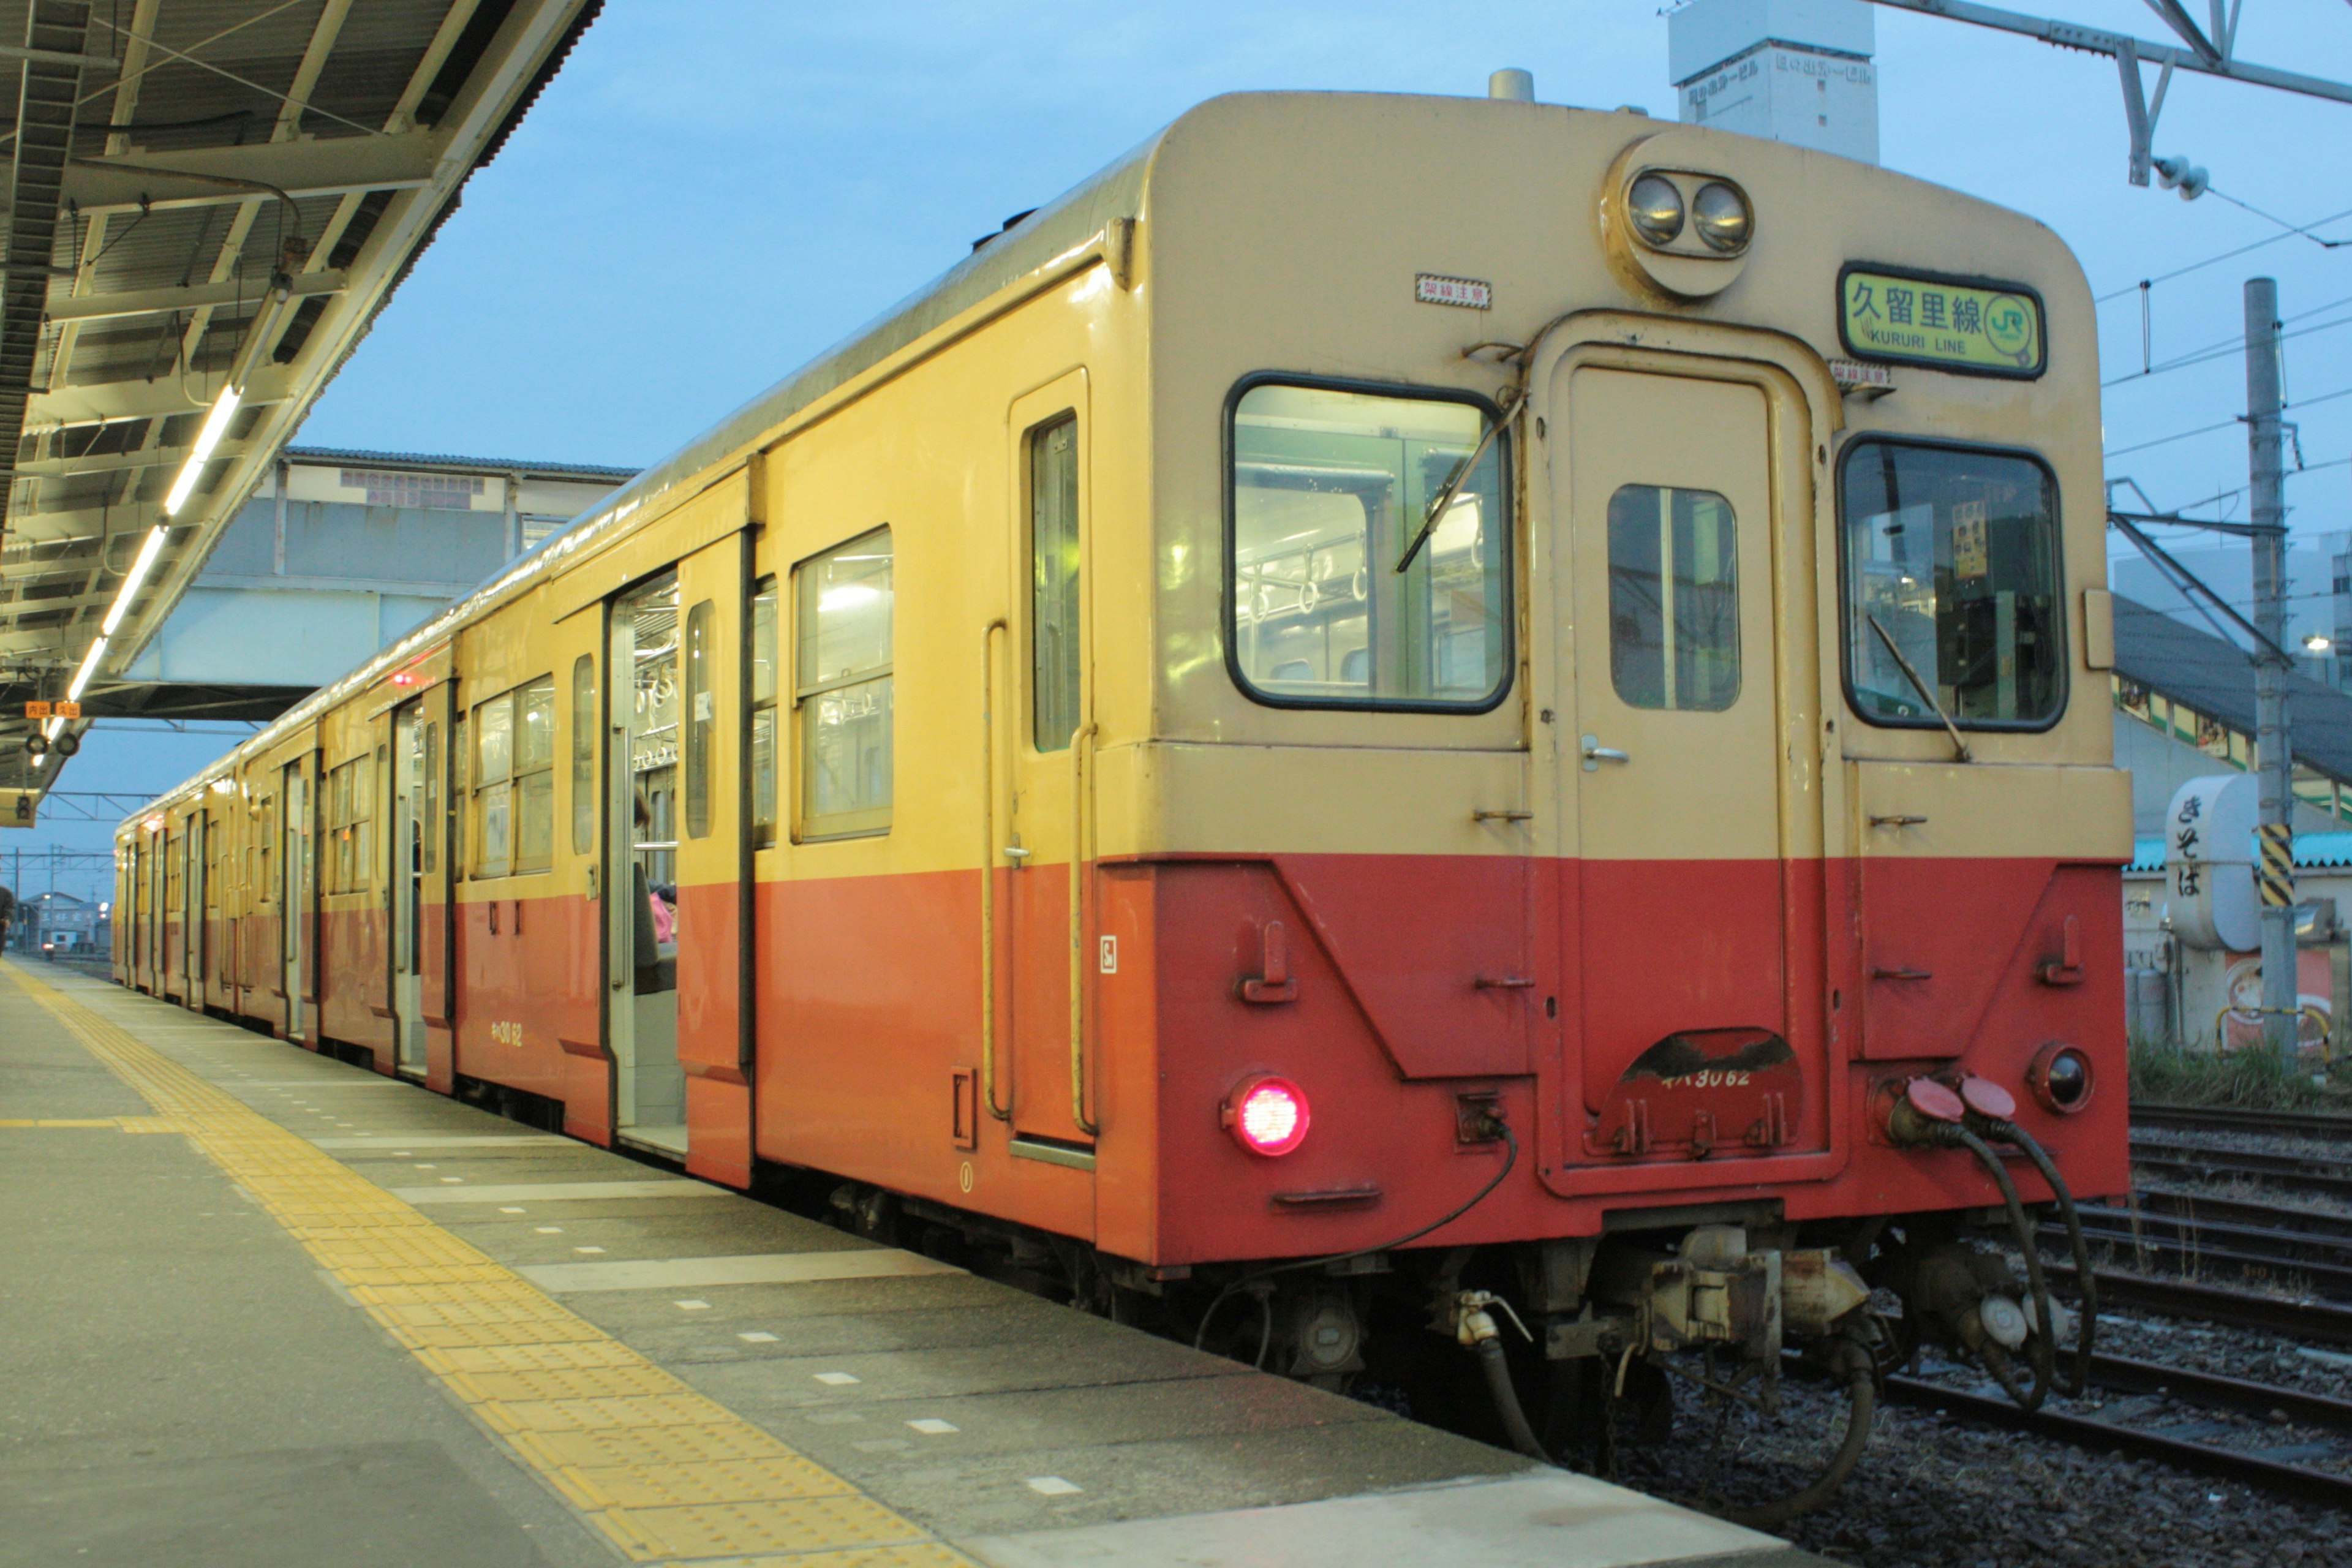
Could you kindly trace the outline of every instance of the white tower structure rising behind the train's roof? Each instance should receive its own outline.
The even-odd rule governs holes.
[[[1691,0],[1665,19],[1689,125],[1879,160],[1877,45],[1865,0]]]

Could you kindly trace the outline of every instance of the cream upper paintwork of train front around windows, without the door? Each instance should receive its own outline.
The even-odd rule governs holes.
[[[1726,176],[1752,200],[1755,237],[1719,294],[1675,299],[1623,263],[1623,240],[1618,259],[1611,254],[1604,200],[1613,169],[1651,155],[1665,167]],[[1562,696],[1541,668],[1550,649],[1538,644],[1564,628],[1531,609],[1550,585],[1529,578],[1559,567],[1531,538],[1543,522],[1531,515],[1541,510],[1541,487],[1522,482],[1515,668],[1505,701],[1489,712],[1298,710],[1251,701],[1225,658],[1228,409],[1244,378],[1272,371],[1498,404],[1519,386],[1517,364],[1505,353],[1465,350],[1526,346],[1548,327],[1555,329],[1548,348],[1557,348],[1581,329],[1562,317],[1595,313],[1611,322],[1613,339],[1604,341],[1618,343],[1642,336],[1639,317],[1668,331],[1708,322],[1717,327],[1715,341],[1743,331],[1755,339],[1759,362],[1802,360],[1809,386],[1828,386],[1823,362],[1846,353],[1839,341],[1846,263],[2030,287],[2044,306],[2046,364],[2034,378],[1893,367],[1891,395],[1832,395],[1832,407],[1813,416],[1818,461],[1797,489],[1809,496],[1816,529],[1811,630],[1820,639],[1823,689],[1802,708],[1818,719],[1813,766],[1832,797],[1816,816],[1830,823],[1828,853],[1858,849],[1842,846],[1846,835],[1835,827],[1853,792],[1846,764],[1952,757],[1940,726],[1875,726],[1844,701],[1837,468],[1846,444],[1867,435],[2020,449],[2051,468],[2063,529],[2067,703],[2042,733],[1973,731],[1969,745],[1980,764],[2110,764],[2107,677],[2086,668],[2082,625],[2084,590],[2105,585],[2096,329],[2082,268],[2046,226],[1886,169],[1630,113],[1489,99],[1251,94],[1204,103],[1164,134],[1145,183],[1141,249],[1152,310],[1160,588],[1152,729],[1169,743],[1265,748],[1263,778],[1249,785],[1263,809],[1279,811],[1265,802],[1294,797],[1301,811],[1312,811],[1315,792],[1284,790],[1279,776],[1287,766],[1327,764],[1294,748],[1367,748],[1369,755],[1345,764],[1350,788],[1367,790],[1383,788],[1374,773],[1383,771],[1378,752],[1390,748],[1552,748],[1559,738],[1545,733],[1538,715],[1559,708]],[[1486,284],[1491,308],[1423,303],[1418,275]],[[1545,442],[1559,440],[1559,430],[1526,418],[1510,437],[1512,461],[1529,475],[1541,470]],[[1661,430],[1658,442],[1670,449],[1675,433]],[[1409,780],[1399,771],[1395,785],[1428,788],[1421,769],[1411,773]],[[1174,811],[1160,823],[1164,849],[1211,849],[1214,825],[1232,818],[1230,804],[1188,813],[1176,802]],[[1327,827],[1308,837],[1329,839]],[[1390,818],[1390,827],[1388,839],[1364,849],[1421,849],[1406,842],[1416,837],[1409,823]],[[1435,851],[1439,839],[1456,842],[1458,830],[1432,825],[1423,837]],[[1552,846],[1573,853],[1564,839]]]

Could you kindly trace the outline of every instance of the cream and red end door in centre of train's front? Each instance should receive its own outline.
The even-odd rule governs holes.
[[[1783,745],[1818,703],[1809,414],[1766,367],[1573,350],[1550,407],[1578,844],[1566,1157],[1712,1154],[1736,1180],[1738,1154],[1828,1138],[1818,823],[1802,825],[1820,792],[1811,748]]]

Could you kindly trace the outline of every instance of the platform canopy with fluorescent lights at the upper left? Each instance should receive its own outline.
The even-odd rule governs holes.
[[[0,0],[0,788],[153,715],[113,675],[597,7]]]

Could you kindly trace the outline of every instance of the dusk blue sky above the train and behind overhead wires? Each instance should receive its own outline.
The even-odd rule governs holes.
[[[2046,9],[2161,35],[2138,0]],[[1665,26],[1658,0],[609,0],[299,440],[649,463],[1207,96],[1482,94],[1489,71],[1524,66],[1550,103],[1670,118]],[[2293,223],[2347,214],[2321,233],[2352,240],[2352,106],[2178,78],[2157,150],[2216,186],[2187,205],[2124,181],[2112,61],[1889,9],[1877,35],[1884,162],[2051,223],[2098,294],[2279,233],[2227,197]],[[2239,56],[2352,80],[2352,7],[2244,0]],[[2105,444],[2220,428],[2114,456],[2110,475],[2159,505],[2246,482],[2227,346],[2251,270],[2279,280],[2291,331],[2345,322],[2286,343],[2314,465],[2288,501],[2298,534],[2352,529],[2352,395],[2314,402],[2352,390],[2352,244],[2288,237],[2157,284],[2157,362],[2225,353],[2110,388]],[[2136,371],[2136,292],[2100,320],[2107,376]],[[64,788],[162,790],[230,743],[101,726]],[[19,846],[106,839],[103,823],[9,835],[0,879]]]

